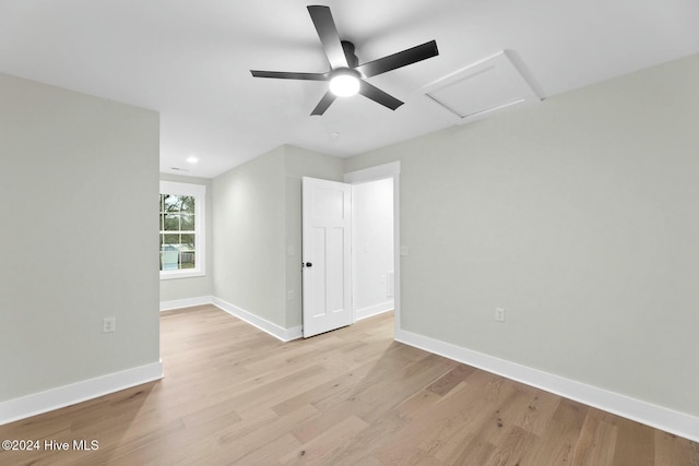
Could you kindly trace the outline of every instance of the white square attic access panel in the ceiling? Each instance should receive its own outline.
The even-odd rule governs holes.
[[[514,105],[541,101],[505,51],[448,74],[423,92],[461,123]]]

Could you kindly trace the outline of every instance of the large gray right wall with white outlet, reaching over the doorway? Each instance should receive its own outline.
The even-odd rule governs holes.
[[[694,56],[348,159],[401,160],[402,327],[699,415],[697,83]]]

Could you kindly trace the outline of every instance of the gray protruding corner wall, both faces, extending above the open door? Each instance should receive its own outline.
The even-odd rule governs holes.
[[[342,166],[284,145],[214,179],[216,298],[284,328],[300,325],[300,178],[341,179]]]

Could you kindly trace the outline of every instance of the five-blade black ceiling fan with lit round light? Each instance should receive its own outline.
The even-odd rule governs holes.
[[[389,55],[368,63],[359,64],[354,52],[354,44],[341,40],[329,7],[309,5],[308,13],[316,26],[320,43],[325,50],[330,71],[325,73],[295,73],[285,71],[250,70],[254,77],[276,77],[282,80],[329,81],[329,91],[320,99],[310,115],[323,115],[336,97],[362,94],[371,100],[395,110],[403,105],[401,100],[366,82],[366,77],[376,76],[396,68],[405,67],[439,55],[437,43],[428,43]]]

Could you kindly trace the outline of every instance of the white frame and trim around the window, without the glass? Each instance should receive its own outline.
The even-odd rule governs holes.
[[[206,186],[161,180],[161,194],[191,195],[194,198],[194,238],[197,241],[194,268],[161,271],[161,279],[206,275]]]

